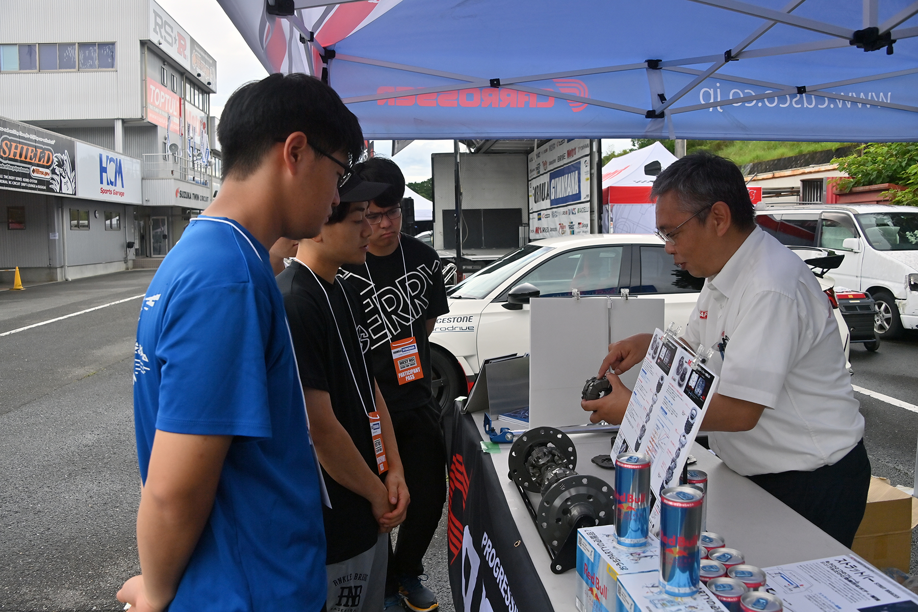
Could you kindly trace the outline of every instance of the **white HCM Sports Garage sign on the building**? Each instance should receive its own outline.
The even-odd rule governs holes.
[[[85,142],[76,143],[76,195],[140,204],[140,160]]]

